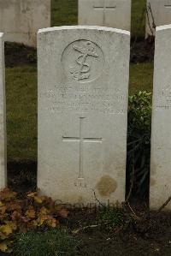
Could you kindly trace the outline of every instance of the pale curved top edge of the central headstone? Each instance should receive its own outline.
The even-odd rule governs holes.
[[[62,26],[62,27],[47,27],[38,30],[38,33],[49,33],[49,32],[56,32],[59,30],[96,30],[96,31],[106,31],[106,32],[113,32],[113,33],[121,33],[130,36],[130,32],[127,30],[122,30],[113,27],[98,27],[98,26]]]

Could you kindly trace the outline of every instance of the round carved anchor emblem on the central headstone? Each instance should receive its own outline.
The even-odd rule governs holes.
[[[103,72],[103,51],[91,41],[74,41],[63,51],[62,65],[73,81],[85,83],[96,80]]]

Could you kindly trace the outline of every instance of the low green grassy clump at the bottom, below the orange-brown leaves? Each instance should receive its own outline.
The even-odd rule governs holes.
[[[14,252],[17,256],[67,256],[75,255],[77,245],[66,230],[53,229],[16,235]]]

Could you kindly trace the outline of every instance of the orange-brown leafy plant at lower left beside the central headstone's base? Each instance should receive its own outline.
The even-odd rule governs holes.
[[[37,192],[19,199],[9,188],[0,192],[0,251],[9,252],[14,234],[28,230],[56,228],[68,211]]]

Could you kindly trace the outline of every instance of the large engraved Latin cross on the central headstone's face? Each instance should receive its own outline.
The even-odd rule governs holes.
[[[80,117],[80,135],[79,137],[65,137],[62,136],[62,141],[66,142],[79,142],[80,144],[80,163],[79,163],[79,177],[78,180],[84,180],[84,170],[83,170],[83,164],[84,164],[84,143],[90,142],[90,143],[102,143],[102,138],[87,138],[83,135],[83,125],[84,125],[84,119],[85,117]]]

